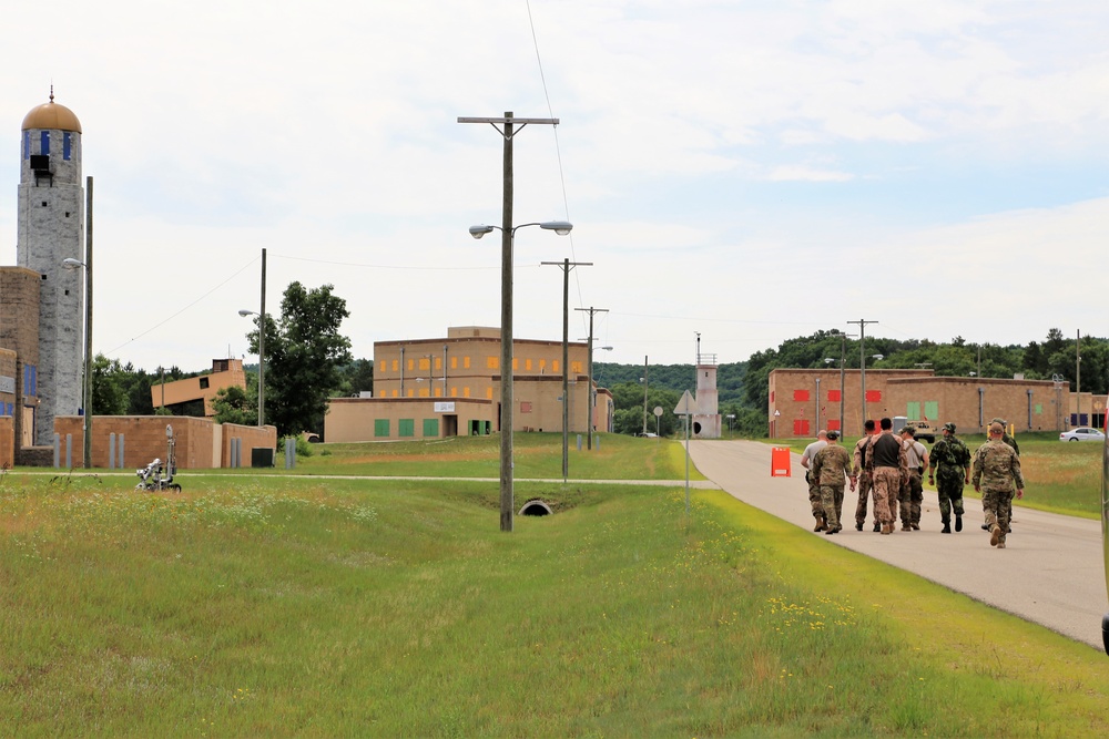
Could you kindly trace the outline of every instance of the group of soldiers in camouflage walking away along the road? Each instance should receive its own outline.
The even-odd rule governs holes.
[[[920,530],[920,505],[924,502],[924,473],[928,483],[936,485],[939,515],[944,527],[940,533],[952,533],[952,514],[955,531],[963,531],[963,487],[973,483],[981,494],[985,523],[989,543],[1005,548],[1010,532],[1013,497],[1024,496],[1025,482],[1020,474],[1020,458],[1016,441],[1005,432],[1005,421],[996,418],[989,423],[989,440],[971,458],[970,450],[955,435],[955,424],[945,423],[943,438],[929,453],[916,441],[913,427],[899,429],[895,434],[888,418],[877,424],[867,420],[864,435],[855,444],[854,455],[840,445],[838,431],[821,431],[817,439],[805,448],[801,464],[808,482],[808,502],[816,521],[814,531],[827,535],[843,531],[844,487],[858,490],[855,506],[855,530],[863,531],[868,502],[874,509],[874,532],[892,534],[896,528],[898,509],[902,531]]]

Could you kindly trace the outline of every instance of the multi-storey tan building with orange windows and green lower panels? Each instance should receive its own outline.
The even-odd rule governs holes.
[[[568,345],[568,429],[590,415],[588,345]],[[513,340],[516,431],[562,431],[562,342]],[[500,431],[500,329],[447,329],[445,339],[374,343],[374,398],[333,398],[324,440],[384,441]],[[596,393],[593,428],[611,429],[612,396]]]

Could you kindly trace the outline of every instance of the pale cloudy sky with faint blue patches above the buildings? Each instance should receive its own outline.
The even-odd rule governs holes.
[[[825,329],[1109,336],[1103,0],[57,0],[4,11],[0,265],[20,124],[80,119],[93,350],[154,371],[248,353],[285,287],[332,285],[355,358],[500,322],[596,361],[743,361]],[[3,189],[0,188],[0,193]]]

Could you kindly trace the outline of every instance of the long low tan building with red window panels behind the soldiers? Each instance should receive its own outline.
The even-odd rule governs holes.
[[[1106,397],[1082,393],[1050,380],[936,377],[924,369],[867,369],[865,415],[858,370],[776,369],[770,373],[771,438],[808,438],[820,429],[859,435],[865,419],[904,417],[938,428],[948,421],[960,432],[983,433],[993,418],[1015,431],[1062,431],[1103,425]],[[1079,406],[1081,403],[1081,412]],[[841,406],[842,404],[842,406]],[[842,408],[842,411],[841,411]]]

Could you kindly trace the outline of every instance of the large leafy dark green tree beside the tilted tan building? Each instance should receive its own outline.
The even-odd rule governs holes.
[[[305,289],[301,283],[285,288],[281,318],[255,317],[246,335],[251,351],[258,351],[258,328],[266,332],[265,420],[278,435],[323,432],[327,399],[342,387],[339,367],[352,361],[350,339],[339,333],[350,312],[333,286]]]

